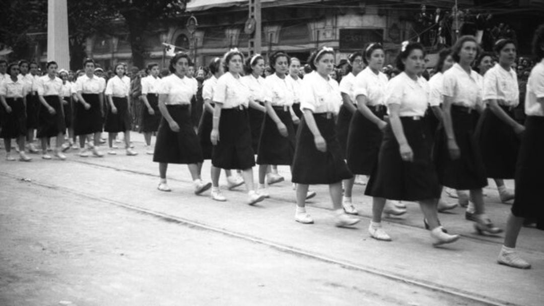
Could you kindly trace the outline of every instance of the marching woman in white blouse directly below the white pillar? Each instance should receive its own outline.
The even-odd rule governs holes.
[[[36,136],[41,140],[41,149],[43,159],[51,159],[47,154],[47,142],[51,137],[56,137],[55,157],[61,160],[66,156],[61,152],[61,146],[64,142],[64,133],[66,133],[66,124],[64,122],[64,109],[62,89],[63,81],[57,77],[57,63],[50,61],[46,65],[47,75],[40,77],[36,82],[38,88],[38,97],[40,104],[38,133]]]

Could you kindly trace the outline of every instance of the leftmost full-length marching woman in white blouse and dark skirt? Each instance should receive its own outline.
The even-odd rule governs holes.
[[[27,135],[26,123],[26,95],[23,81],[17,77],[18,64],[8,65],[8,77],[0,84],[0,102],[2,103],[2,130],[0,138],[4,140],[4,147],[8,161],[15,160],[11,156],[11,139],[17,140],[19,146],[19,160],[30,161],[24,153],[24,141]]]

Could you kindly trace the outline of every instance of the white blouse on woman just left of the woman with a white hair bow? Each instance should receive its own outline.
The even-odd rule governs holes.
[[[374,73],[366,67],[355,77],[355,97],[367,97],[368,106],[385,104],[385,89],[389,80],[383,72]],[[355,99],[357,101],[357,99]]]

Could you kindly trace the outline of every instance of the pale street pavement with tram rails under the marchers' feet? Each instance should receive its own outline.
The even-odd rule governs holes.
[[[355,227],[334,227],[324,185],[308,202],[316,223],[300,224],[288,167],[280,167],[286,182],[255,207],[244,204],[243,186],[215,202],[209,191],[194,195],[185,165],[169,166],[172,192],[158,191],[158,165],[143,136],[132,139],[137,157],[118,149],[104,158],[74,150],[65,161],[0,159],[0,305],[544,304],[539,230],[523,228],[518,240],[531,270],[498,265],[502,236],[475,233],[461,208],[440,214],[462,235],[452,245],[431,246],[410,202],[402,220],[384,220],[393,241],[376,241],[364,186],[354,190]],[[487,213],[504,228],[510,205],[491,181],[485,193]]]

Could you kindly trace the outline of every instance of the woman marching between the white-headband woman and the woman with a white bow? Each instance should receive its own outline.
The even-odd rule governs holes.
[[[351,172],[369,176],[378,163],[382,130],[387,126],[384,116],[385,88],[388,79],[381,72],[385,52],[380,43],[369,43],[361,58],[367,67],[358,73],[354,80],[353,97],[357,111],[350,122],[346,158]],[[346,188],[345,192],[344,208],[351,205],[351,190]],[[384,213],[388,216],[404,215],[406,206],[397,201],[387,201]]]

